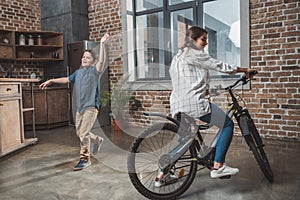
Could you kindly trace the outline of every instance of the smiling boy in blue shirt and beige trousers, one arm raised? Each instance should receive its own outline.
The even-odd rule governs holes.
[[[81,67],[69,77],[50,79],[40,85],[45,89],[52,83],[75,84],[76,98],[76,135],[80,139],[80,160],[73,168],[74,171],[82,170],[91,165],[90,146],[91,141],[94,143],[93,154],[100,150],[103,138],[91,133],[91,129],[98,115],[100,106],[99,77],[104,68],[105,48],[109,35],[105,34],[101,38],[99,60],[93,51],[85,51],[81,58]]]

